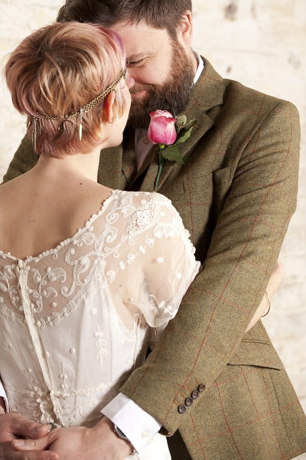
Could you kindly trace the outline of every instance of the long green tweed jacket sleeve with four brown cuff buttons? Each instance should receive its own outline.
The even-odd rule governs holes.
[[[145,364],[120,391],[173,434],[179,406],[205,397],[239,347],[264,294],[296,207],[299,118],[279,101],[245,147],[212,235],[202,272]],[[202,391],[203,390],[203,391]]]

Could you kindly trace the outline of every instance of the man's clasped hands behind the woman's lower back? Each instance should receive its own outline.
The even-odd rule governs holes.
[[[131,445],[117,437],[106,417],[92,428],[49,431],[48,426],[30,422],[18,413],[0,413],[2,460],[123,460],[130,453]]]

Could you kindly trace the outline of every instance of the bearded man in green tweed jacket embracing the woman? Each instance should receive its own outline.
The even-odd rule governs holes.
[[[261,321],[244,333],[295,210],[295,107],[223,80],[192,51],[190,0],[66,3],[58,20],[99,22],[121,34],[135,79],[129,127],[120,147],[101,152],[99,181],[153,191],[159,155],[146,137],[148,113],[196,119],[180,146],[184,164],[166,162],[157,190],[180,212],[203,271],[145,365],[103,410],[120,429],[117,458],[124,458],[119,436],[141,452],[158,430],[171,436],[174,460],[299,455],[306,450],[306,419],[283,364]],[[5,180],[35,162],[25,136]],[[18,423],[6,425],[12,436],[22,433]],[[47,449],[47,440],[25,443],[33,449],[27,458],[49,458],[35,451]]]

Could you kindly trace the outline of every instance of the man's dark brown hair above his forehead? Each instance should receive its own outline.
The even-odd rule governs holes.
[[[98,22],[112,27],[122,20],[131,24],[144,20],[150,27],[166,29],[176,39],[188,10],[192,10],[191,0],[66,0],[57,21]]]

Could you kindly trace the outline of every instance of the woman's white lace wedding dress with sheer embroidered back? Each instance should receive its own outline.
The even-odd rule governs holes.
[[[198,269],[188,231],[158,193],[113,191],[74,236],[37,257],[0,251],[10,410],[51,427],[95,424]],[[164,436],[156,439],[133,458],[169,458]]]

